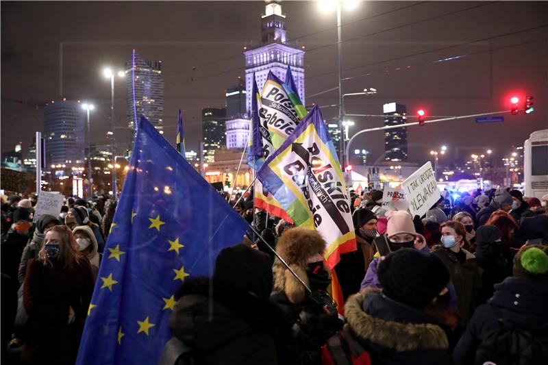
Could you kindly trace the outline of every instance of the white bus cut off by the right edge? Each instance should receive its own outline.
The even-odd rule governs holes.
[[[534,131],[523,144],[525,196],[548,194],[548,129]]]

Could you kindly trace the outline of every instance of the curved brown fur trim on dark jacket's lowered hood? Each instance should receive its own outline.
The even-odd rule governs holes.
[[[449,349],[445,331],[432,323],[400,323],[370,316],[362,309],[364,299],[377,288],[366,288],[348,298],[345,305],[347,323],[353,333],[367,342],[397,352],[421,349]]]

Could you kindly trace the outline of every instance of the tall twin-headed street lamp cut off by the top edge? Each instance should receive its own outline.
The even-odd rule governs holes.
[[[339,131],[340,131],[340,141],[339,141],[339,151],[340,151],[340,157],[343,161],[341,161],[341,165],[345,165],[345,138],[344,138],[344,126],[343,126],[343,87],[341,86],[342,83],[342,77],[340,74],[340,58],[341,54],[343,53],[343,40],[341,36],[341,25],[340,25],[340,13],[342,5],[345,5],[345,8],[347,10],[352,10],[353,8],[356,8],[356,5],[358,5],[357,0],[320,0],[318,1],[319,8],[321,12],[323,13],[329,13],[332,12],[333,8],[336,8],[337,10],[337,65],[338,65],[338,123],[339,123]]]

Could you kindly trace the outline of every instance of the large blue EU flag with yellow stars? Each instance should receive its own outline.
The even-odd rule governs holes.
[[[77,364],[156,364],[172,337],[173,293],[211,276],[248,225],[141,117]]]

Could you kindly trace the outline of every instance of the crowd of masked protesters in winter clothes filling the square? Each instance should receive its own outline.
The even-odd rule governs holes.
[[[321,234],[259,209],[252,192],[227,196],[249,231],[212,279],[175,293],[182,350],[167,363],[545,363],[548,194],[464,192],[422,217],[382,196],[351,191],[356,250],[334,270]],[[69,198],[33,223],[34,205],[2,201],[2,355],[73,364],[116,202]]]

